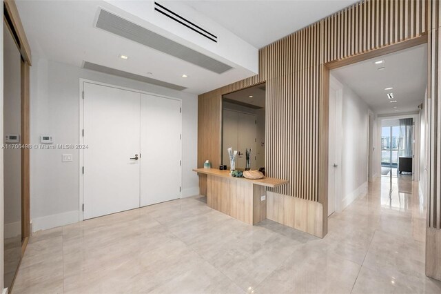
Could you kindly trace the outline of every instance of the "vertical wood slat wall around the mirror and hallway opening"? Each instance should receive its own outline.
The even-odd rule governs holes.
[[[258,75],[199,96],[205,108],[216,101],[216,115],[199,117],[199,129],[210,131],[198,135],[198,166],[220,163],[221,144],[205,142],[221,136],[222,95],[266,82],[265,168],[289,180],[272,191],[322,204],[326,235],[329,68],[425,42],[433,5],[438,1],[366,0],[261,48]]]

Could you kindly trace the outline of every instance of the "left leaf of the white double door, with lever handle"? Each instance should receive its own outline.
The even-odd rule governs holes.
[[[137,208],[140,94],[90,83],[84,94],[83,218]]]

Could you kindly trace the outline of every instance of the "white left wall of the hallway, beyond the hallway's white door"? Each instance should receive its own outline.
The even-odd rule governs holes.
[[[357,197],[367,192],[369,112],[371,110],[349,86],[341,81],[340,84],[342,86],[343,131],[341,144],[342,195],[337,195],[337,197],[341,197],[338,199],[341,203],[337,206],[344,209]],[[375,156],[374,154],[372,156]]]

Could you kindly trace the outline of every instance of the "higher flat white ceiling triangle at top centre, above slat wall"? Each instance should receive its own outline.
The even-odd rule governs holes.
[[[262,48],[358,1],[201,0],[179,1],[205,14],[238,37]]]

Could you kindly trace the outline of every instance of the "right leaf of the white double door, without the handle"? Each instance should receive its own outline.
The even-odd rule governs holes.
[[[181,101],[141,94],[141,206],[181,196]]]

